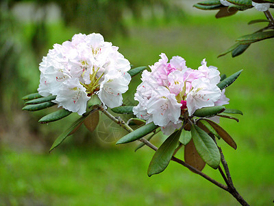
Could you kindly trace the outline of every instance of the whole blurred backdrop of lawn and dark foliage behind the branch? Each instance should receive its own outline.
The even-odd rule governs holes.
[[[230,75],[244,69],[227,89],[228,108],[244,115],[222,119],[238,144],[220,141],[238,192],[251,205],[274,200],[273,40],[255,43],[232,58],[216,58],[239,36],[260,29],[262,12],[247,10],[224,19],[192,8],[197,1],[1,1],[0,11],[0,205],[237,205],[227,192],[177,163],[147,176],[153,156],[137,143],[115,146],[121,136],[104,139],[84,126],[49,154],[54,139],[77,119],[38,124],[49,111],[21,111],[21,98],[36,92],[38,64],[54,43],[73,34],[100,32],[133,65],[153,65],[159,54],[182,56],[188,67],[208,65]],[[131,102],[140,76],[125,95]],[[53,111],[55,108],[50,108]],[[110,124],[100,116],[100,124]],[[127,118],[127,117],[125,117]],[[115,128],[115,126],[113,126]],[[153,143],[160,145],[162,139]],[[180,151],[177,157],[184,159]],[[208,166],[203,170],[219,181]]]

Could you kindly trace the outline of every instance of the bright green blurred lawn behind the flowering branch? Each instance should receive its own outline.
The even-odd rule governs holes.
[[[236,58],[229,54],[216,58],[236,38],[257,30],[260,26],[250,26],[247,22],[262,18],[260,15],[252,18],[240,13],[227,19],[186,16],[180,24],[153,26],[129,22],[130,37],[116,36],[108,41],[118,45],[119,51],[136,66],[153,65],[164,52],[169,58],[184,57],[187,66],[193,69],[199,67],[203,58],[227,75],[244,69],[226,91],[230,98],[227,107],[238,108],[244,115],[239,117],[240,123],[230,119],[221,121],[238,149],[220,144],[238,192],[251,205],[271,205],[274,198],[273,40],[255,43]],[[62,42],[62,37],[70,38],[71,31],[52,25],[51,41]],[[56,39],[55,34],[58,34]],[[138,80],[134,80],[132,93],[137,84]],[[148,148],[134,153],[134,144],[108,145],[108,149],[66,145],[51,155],[2,147],[0,205],[237,204],[227,192],[176,163],[149,178],[147,167],[153,151]],[[178,157],[183,158],[182,152]],[[204,172],[221,181],[215,170],[206,167]]]

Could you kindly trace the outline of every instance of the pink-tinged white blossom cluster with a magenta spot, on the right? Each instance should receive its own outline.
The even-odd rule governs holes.
[[[186,67],[186,61],[173,56],[168,63],[165,54],[150,66],[151,72],[142,72],[142,83],[138,85],[134,100],[139,104],[133,111],[139,119],[153,122],[170,135],[182,126],[181,115],[188,111],[192,115],[198,108],[229,104],[225,89],[216,86],[220,72],[206,65],[203,59],[198,69]]]

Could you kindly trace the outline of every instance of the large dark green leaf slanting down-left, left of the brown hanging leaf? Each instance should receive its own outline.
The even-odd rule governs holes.
[[[167,165],[169,165],[169,162],[171,161],[173,152],[177,147],[181,132],[181,130],[175,131],[175,133],[170,135],[160,148],[156,150],[151,162],[149,163],[149,169],[147,170],[148,176],[159,174],[166,169]]]

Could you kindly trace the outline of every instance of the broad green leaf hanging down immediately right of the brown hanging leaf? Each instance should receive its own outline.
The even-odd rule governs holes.
[[[201,159],[210,167],[217,169],[220,165],[221,155],[213,139],[196,125],[191,126],[191,135]]]

